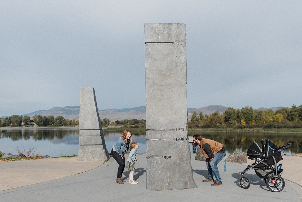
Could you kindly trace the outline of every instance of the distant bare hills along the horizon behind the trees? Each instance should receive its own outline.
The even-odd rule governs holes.
[[[219,111],[220,114],[222,114],[224,111],[226,111],[228,107],[222,106],[222,105],[209,105],[202,108],[188,108],[188,119],[191,118],[193,111],[201,112],[205,115],[209,115],[215,111]],[[271,109],[273,111],[276,111],[277,109],[280,109],[283,107],[272,107]],[[259,108],[257,110],[267,110],[268,108]],[[255,109],[256,110],[256,109]],[[140,107],[133,107],[133,108],[124,108],[124,109],[104,109],[104,110],[98,110],[100,114],[100,118],[108,118],[110,121],[116,121],[116,120],[124,120],[124,119],[146,119],[146,106],[140,106]],[[34,111],[29,114],[23,114],[22,116],[30,116],[33,118],[35,114],[41,115],[41,116],[54,116],[55,118],[57,116],[63,116],[64,118],[68,118],[70,120],[78,120],[79,119],[79,113],[80,113],[80,106],[66,106],[66,107],[53,107],[49,110],[39,110]]]

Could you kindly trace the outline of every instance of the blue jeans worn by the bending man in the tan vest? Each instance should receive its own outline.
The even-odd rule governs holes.
[[[210,159],[206,158],[206,165],[207,165],[207,169],[208,169],[208,172],[209,172],[209,177],[208,177],[209,180],[214,179],[214,176],[213,176],[213,173],[214,173],[216,181],[217,182],[222,182],[221,177],[219,175],[217,164],[225,157],[225,155],[226,155],[226,151],[224,153],[215,154],[214,158],[212,159],[212,161],[210,163],[210,166],[209,166]]]

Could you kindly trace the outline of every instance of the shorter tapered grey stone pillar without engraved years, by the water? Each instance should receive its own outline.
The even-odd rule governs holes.
[[[78,161],[107,161],[106,149],[95,91],[80,87],[80,147]]]

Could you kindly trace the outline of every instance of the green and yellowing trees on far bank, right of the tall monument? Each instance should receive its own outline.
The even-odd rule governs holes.
[[[222,114],[215,111],[210,115],[203,115],[193,111],[188,127],[234,127],[234,128],[301,128],[302,104],[297,107],[285,107],[276,110],[254,110],[246,106],[241,109],[227,108]]]

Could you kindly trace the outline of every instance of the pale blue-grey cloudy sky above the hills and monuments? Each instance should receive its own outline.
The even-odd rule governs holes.
[[[0,0],[0,117],[146,104],[144,23],[187,25],[188,108],[302,104],[302,1]]]

